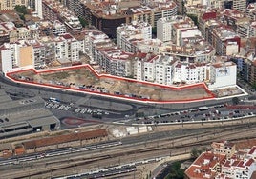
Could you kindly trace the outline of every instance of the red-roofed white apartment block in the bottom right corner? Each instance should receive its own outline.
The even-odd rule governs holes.
[[[224,142],[214,142],[211,151],[203,152],[193,164],[185,170],[186,179],[200,178],[244,178],[250,179],[256,170],[256,147],[236,150],[235,145]]]

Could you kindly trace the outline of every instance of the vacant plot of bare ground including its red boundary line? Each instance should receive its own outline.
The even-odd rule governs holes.
[[[184,101],[214,97],[203,84],[192,87],[172,88],[132,79],[98,75],[90,67],[75,67],[37,73],[23,70],[9,74],[11,78],[47,86],[78,89],[107,95],[153,101]]]

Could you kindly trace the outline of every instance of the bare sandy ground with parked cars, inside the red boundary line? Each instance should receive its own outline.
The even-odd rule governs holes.
[[[34,83],[59,85],[72,89],[85,87],[85,90],[97,92],[104,91],[109,94],[118,92],[123,95],[126,94],[126,96],[133,94],[138,98],[148,98],[160,101],[191,100],[211,96],[203,86],[187,89],[161,88],[153,85],[145,85],[107,77],[98,78],[87,68],[39,74],[34,74],[32,71],[22,71],[17,72],[16,75],[29,77]]]

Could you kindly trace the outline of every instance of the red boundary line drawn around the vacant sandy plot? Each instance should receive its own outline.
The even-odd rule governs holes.
[[[158,101],[158,100],[152,100],[152,99],[140,99],[140,98],[134,98],[134,97],[126,97],[124,95],[115,95],[115,94],[108,94],[108,93],[101,93],[97,91],[88,91],[88,90],[83,90],[83,89],[71,89],[67,87],[62,87],[62,86],[57,86],[57,85],[49,85],[49,84],[39,84],[39,83],[34,83],[34,82],[29,82],[26,80],[17,80],[13,79],[11,77],[11,74],[23,72],[23,71],[28,71],[32,70],[35,74],[40,74],[40,73],[46,73],[46,72],[55,72],[55,71],[60,71],[60,70],[74,70],[74,69],[81,69],[81,68],[87,68],[93,72],[97,78],[112,78],[116,80],[121,80],[121,81],[127,81],[131,83],[139,83],[142,85],[150,85],[150,86],[156,86],[164,89],[174,89],[174,90],[181,90],[181,89],[190,89],[194,87],[203,87],[203,89],[207,92],[209,97],[203,97],[203,98],[197,98],[197,99],[184,99],[184,100],[171,100],[171,101]],[[103,96],[108,96],[108,97],[113,97],[113,98],[118,98],[118,99],[126,99],[126,100],[131,100],[131,101],[136,101],[136,102],[144,102],[144,103],[162,103],[162,104],[167,104],[167,103],[188,103],[188,102],[196,102],[196,101],[203,101],[203,100],[211,100],[215,99],[215,95],[213,92],[211,92],[205,85],[205,83],[197,83],[193,85],[186,85],[182,87],[170,87],[167,85],[160,85],[160,84],[155,84],[151,82],[145,82],[145,81],[138,81],[135,79],[129,79],[129,78],[124,78],[124,77],[119,77],[119,76],[113,76],[110,74],[98,74],[97,71],[90,66],[89,64],[84,64],[84,65],[77,65],[77,66],[71,66],[71,67],[64,67],[64,68],[58,68],[58,69],[52,69],[52,70],[35,70],[35,69],[25,69],[25,70],[16,70],[16,71],[11,71],[6,74],[6,76],[11,79],[11,81],[17,82],[17,83],[24,83],[24,84],[29,84],[29,85],[34,85],[34,86],[41,86],[41,87],[49,87],[49,88],[54,88],[54,89],[68,89],[68,90],[74,90],[76,92],[84,92],[84,93],[89,93],[89,94],[96,94],[96,95],[103,95]]]

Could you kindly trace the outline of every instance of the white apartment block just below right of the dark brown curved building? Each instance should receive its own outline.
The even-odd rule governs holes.
[[[133,21],[117,28],[117,47],[127,52],[136,52],[133,42],[152,39],[152,27],[145,22]]]

